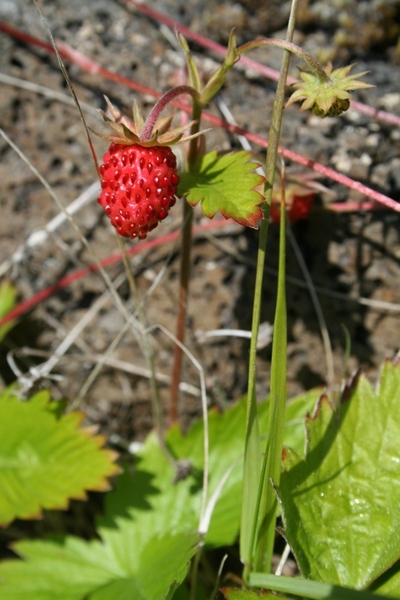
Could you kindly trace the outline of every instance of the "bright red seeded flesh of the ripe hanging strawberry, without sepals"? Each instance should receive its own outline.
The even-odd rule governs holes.
[[[168,146],[113,142],[103,160],[98,202],[120,235],[143,240],[175,204],[175,155]]]

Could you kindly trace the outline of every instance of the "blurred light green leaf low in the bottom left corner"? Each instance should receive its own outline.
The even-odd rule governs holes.
[[[2,600],[164,600],[186,576],[197,534],[150,540],[137,569],[125,571],[107,544],[75,537],[24,541],[24,560],[0,564]],[[134,540],[132,540],[134,545]]]

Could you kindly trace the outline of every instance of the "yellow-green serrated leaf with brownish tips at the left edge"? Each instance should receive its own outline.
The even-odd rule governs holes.
[[[87,490],[106,490],[119,471],[104,437],[80,429],[83,414],[59,418],[47,392],[21,402],[0,396],[0,523],[33,519],[42,509],[66,508]]]

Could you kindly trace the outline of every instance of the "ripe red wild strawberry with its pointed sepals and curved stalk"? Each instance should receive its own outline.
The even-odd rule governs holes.
[[[143,240],[175,204],[179,176],[170,146],[193,139],[201,132],[183,137],[192,122],[170,129],[172,116],[161,119],[158,115],[167,102],[184,91],[185,86],[164,94],[146,121],[136,103],[133,121],[122,115],[108,98],[112,119],[100,111],[111,133],[96,135],[111,145],[100,167],[102,191],[98,202],[124,237]]]

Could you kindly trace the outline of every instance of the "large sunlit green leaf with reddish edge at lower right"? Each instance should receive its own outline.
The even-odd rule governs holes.
[[[360,376],[340,415],[322,399],[307,456],[287,452],[279,495],[285,535],[308,579],[365,588],[400,555],[400,367],[374,393]]]

